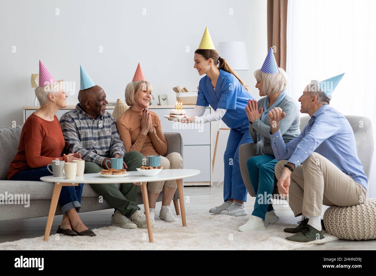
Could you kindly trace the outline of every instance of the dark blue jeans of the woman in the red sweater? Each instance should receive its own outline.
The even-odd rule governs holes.
[[[24,180],[24,181],[41,181],[42,176],[49,176],[52,173],[47,170],[47,166],[40,168],[29,168],[15,173],[9,180]],[[59,196],[61,211],[66,215],[66,212],[71,208],[76,208],[77,212],[81,208],[81,195],[83,183],[78,186],[63,186]]]

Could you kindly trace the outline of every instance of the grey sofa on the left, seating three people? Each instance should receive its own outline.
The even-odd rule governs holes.
[[[20,204],[0,204],[0,221],[27,219],[32,217],[48,216],[53,183],[42,181],[9,181],[7,173],[9,164],[17,153],[20,142],[22,125],[15,128],[0,128],[0,194],[30,194],[30,206],[24,207]],[[164,133],[167,141],[167,154],[179,152],[183,157],[183,140],[180,133]],[[167,155],[166,154],[166,155]],[[120,187],[120,184],[117,184]],[[177,209],[179,195],[174,195],[174,205]],[[158,197],[162,201],[162,193]],[[138,187],[136,204],[143,204],[141,189]],[[112,208],[107,202],[99,203],[98,195],[91,189],[90,185],[84,185],[81,199],[80,212],[97,211]],[[179,209],[176,210],[179,214]],[[62,214],[60,205],[56,209],[56,215]]]

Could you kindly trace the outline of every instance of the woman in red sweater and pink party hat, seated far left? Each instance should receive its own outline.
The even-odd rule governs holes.
[[[35,95],[41,107],[23,125],[18,152],[8,171],[9,180],[40,181],[42,176],[52,175],[47,165],[53,160],[71,162],[81,158],[77,152],[62,154],[65,141],[55,113],[67,107],[68,95],[65,94],[62,80],[55,81],[41,61],[39,87],[35,89]],[[95,236],[77,214],[81,207],[82,186],[62,187],[59,202],[64,216],[57,233]]]

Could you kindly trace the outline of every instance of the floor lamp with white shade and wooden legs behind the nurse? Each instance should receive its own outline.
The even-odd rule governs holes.
[[[249,70],[248,56],[246,49],[246,42],[219,42],[218,53],[221,57],[226,59],[226,61],[231,65],[234,70]],[[214,161],[215,154],[217,152],[218,137],[220,130],[230,130],[230,128],[221,128],[221,120],[218,122],[217,138],[215,139],[214,155],[212,172],[214,172]],[[223,181],[223,179],[218,182],[218,185]]]

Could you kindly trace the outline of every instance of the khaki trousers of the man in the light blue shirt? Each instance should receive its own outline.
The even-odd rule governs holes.
[[[277,179],[287,162],[276,164]],[[298,165],[290,178],[288,201],[296,217],[321,216],[322,205],[347,207],[365,201],[366,189],[316,152]]]

